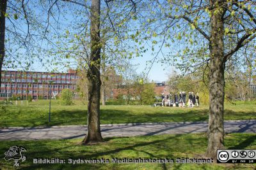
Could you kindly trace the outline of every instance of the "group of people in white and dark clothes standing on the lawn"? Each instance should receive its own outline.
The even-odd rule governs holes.
[[[174,95],[174,103],[172,101],[172,96],[168,94],[164,96],[162,94],[162,106],[164,106],[165,101],[167,100],[168,106],[175,105],[176,107],[185,107],[186,106],[186,92],[180,92],[179,96],[177,94]],[[198,92],[194,94],[194,92],[188,93],[188,107],[198,107],[199,106],[199,94]]]

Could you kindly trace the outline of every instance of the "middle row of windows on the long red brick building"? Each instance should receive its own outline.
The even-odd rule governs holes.
[[[15,87],[18,87],[18,88],[26,88],[26,87],[33,87],[33,88],[53,88],[53,89],[72,89],[73,87],[76,88],[76,86],[72,86],[72,85],[27,85],[27,84],[1,84],[1,87],[12,87],[12,88],[15,88]]]

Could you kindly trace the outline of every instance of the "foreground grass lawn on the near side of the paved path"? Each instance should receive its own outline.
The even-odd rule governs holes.
[[[143,158],[174,159],[181,157],[204,158],[207,148],[205,134],[179,134],[140,136],[132,138],[106,138],[97,145],[79,145],[81,139],[0,141],[0,169],[13,169],[13,160],[4,160],[4,152],[10,146],[24,146],[27,160],[20,169],[255,169],[256,164],[68,164],[68,159]],[[227,134],[227,149],[256,148],[256,134]],[[33,158],[60,158],[66,164],[33,164]]]

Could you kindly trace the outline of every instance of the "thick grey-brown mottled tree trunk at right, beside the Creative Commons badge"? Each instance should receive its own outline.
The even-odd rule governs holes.
[[[211,6],[218,6],[218,1],[210,1]],[[224,148],[224,23],[223,8],[216,10],[211,17],[211,39],[210,39],[210,74],[209,74],[209,129],[208,148],[206,155],[216,159],[217,149]],[[213,13],[214,11],[212,11]]]

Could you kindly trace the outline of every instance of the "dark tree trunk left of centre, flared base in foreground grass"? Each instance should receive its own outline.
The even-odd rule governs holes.
[[[102,142],[100,134],[100,0],[92,0],[91,6],[91,54],[88,78],[88,132],[84,144]]]

